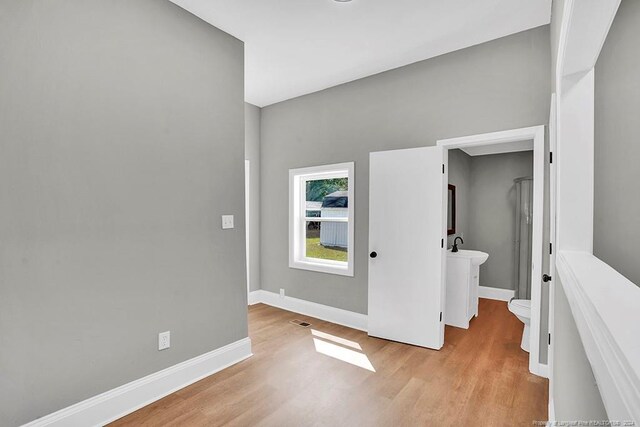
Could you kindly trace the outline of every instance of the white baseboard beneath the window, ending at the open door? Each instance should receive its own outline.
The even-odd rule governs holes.
[[[318,304],[315,302],[305,301],[292,297],[280,297],[279,294],[265,291],[263,289],[251,292],[249,296],[249,304],[263,303],[272,307],[281,308],[294,313],[304,314],[305,316],[315,317],[316,319],[326,320],[327,322],[336,323],[338,325],[347,326],[349,328],[367,331],[367,315],[355,313],[353,311],[342,310],[340,308],[328,305]]]

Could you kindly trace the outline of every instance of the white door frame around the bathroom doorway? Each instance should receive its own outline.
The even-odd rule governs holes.
[[[530,352],[529,371],[541,377],[548,377],[548,365],[540,363],[540,319],[542,300],[542,253],[543,253],[543,233],[544,233],[544,162],[545,162],[545,126],[532,126],[520,129],[469,135],[459,138],[449,138],[438,140],[436,145],[444,149],[445,163],[445,185],[442,191],[446,196],[448,176],[449,176],[449,150],[457,148],[472,148],[487,145],[500,144],[501,150],[495,153],[510,151],[522,151],[520,144],[522,141],[533,141],[533,230],[532,230],[532,251],[531,251],[531,325],[530,325]],[[518,144],[518,145],[516,145]],[[509,149],[511,146],[511,149]],[[446,217],[446,204],[443,206]],[[446,273],[445,273],[446,274]],[[534,285],[540,284],[540,285]]]

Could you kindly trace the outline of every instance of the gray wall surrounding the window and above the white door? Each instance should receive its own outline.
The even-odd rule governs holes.
[[[544,26],[262,110],[261,286],[367,312],[369,153],[548,122]],[[288,170],[355,161],[355,276],[288,267]]]

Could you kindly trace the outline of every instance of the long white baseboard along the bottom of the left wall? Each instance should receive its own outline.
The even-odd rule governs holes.
[[[251,340],[244,338],[38,418],[23,427],[103,426],[250,356]]]

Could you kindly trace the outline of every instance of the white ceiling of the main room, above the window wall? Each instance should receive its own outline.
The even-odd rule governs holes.
[[[548,24],[551,0],[171,0],[245,42],[263,107]]]

